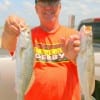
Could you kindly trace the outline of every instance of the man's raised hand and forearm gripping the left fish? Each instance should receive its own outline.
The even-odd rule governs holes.
[[[25,21],[18,16],[9,16],[4,25],[2,35],[2,47],[14,51],[16,48],[17,36],[20,34],[20,27],[25,27]]]

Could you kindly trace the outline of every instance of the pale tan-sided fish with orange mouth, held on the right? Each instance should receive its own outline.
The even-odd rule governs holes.
[[[83,25],[80,29],[80,52],[77,57],[77,68],[80,80],[82,100],[92,100],[95,85],[95,65],[92,27]]]

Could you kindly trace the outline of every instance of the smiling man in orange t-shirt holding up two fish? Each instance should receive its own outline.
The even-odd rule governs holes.
[[[60,0],[35,0],[40,25],[31,30],[35,50],[35,81],[24,100],[80,100],[76,57],[80,49],[78,32],[59,23]],[[17,16],[6,20],[2,47],[14,52],[19,25]]]

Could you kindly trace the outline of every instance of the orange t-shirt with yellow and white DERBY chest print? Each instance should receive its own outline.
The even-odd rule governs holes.
[[[75,33],[64,26],[55,33],[32,29],[35,81],[24,100],[80,100],[77,67],[65,58],[60,41]]]

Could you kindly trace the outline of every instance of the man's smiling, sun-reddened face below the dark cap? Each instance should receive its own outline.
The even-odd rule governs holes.
[[[58,20],[60,9],[61,9],[61,3],[59,1],[56,2],[39,1],[36,4],[36,11],[42,23],[54,22]]]

